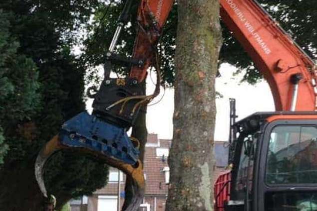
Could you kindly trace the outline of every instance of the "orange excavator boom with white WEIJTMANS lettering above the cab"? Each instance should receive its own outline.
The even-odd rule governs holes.
[[[269,83],[276,110],[316,110],[312,59],[256,0],[220,3],[222,19]]]

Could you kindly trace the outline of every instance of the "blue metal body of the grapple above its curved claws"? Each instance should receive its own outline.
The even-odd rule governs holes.
[[[62,125],[59,139],[63,145],[81,147],[134,165],[139,156],[126,129],[81,112]]]

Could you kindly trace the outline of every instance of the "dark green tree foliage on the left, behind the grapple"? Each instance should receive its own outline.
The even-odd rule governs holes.
[[[80,42],[78,30],[100,4],[98,0],[0,1],[0,163],[6,153],[0,183],[10,192],[28,195],[28,190],[12,190],[10,178],[1,171],[15,169],[23,174],[60,125],[85,108],[85,66],[70,49]],[[45,182],[57,201],[66,202],[103,187],[107,174],[103,162],[60,152],[49,162]],[[29,178],[22,182],[36,185]]]

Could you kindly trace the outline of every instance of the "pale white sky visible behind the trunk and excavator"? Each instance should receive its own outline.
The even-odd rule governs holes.
[[[242,74],[233,76],[234,66],[223,64],[220,67],[221,77],[216,79],[216,90],[223,98],[216,100],[217,115],[214,139],[227,141],[229,137],[229,98],[236,99],[237,120],[257,111],[273,111],[274,102],[268,84],[262,81],[256,85],[240,83]],[[102,74],[101,74],[102,75]],[[152,78],[152,80],[151,80]],[[147,77],[147,95],[153,93],[156,81],[155,73]],[[157,104],[156,104],[157,103]],[[92,100],[86,103],[86,108],[91,112]],[[155,104],[151,106],[151,104]],[[146,125],[149,133],[158,134],[160,139],[173,138],[173,112],[174,90],[169,88],[165,92],[161,89],[160,95],[149,104],[146,115]]]

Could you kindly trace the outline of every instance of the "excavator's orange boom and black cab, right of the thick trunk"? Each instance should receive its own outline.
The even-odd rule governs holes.
[[[220,0],[221,17],[272,91],[275,112],[235,122],[215,211],[317,211],[316,65],[256,0]]]

